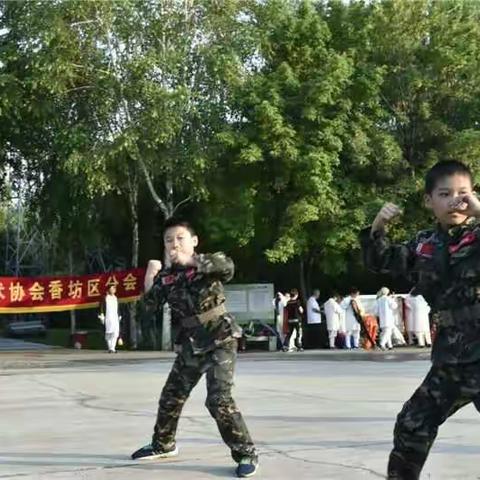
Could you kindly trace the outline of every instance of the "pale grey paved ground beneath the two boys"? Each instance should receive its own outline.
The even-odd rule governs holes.
[[[242,355],[235,397],[257,441],[261,479],[384,478],[395,415],[426,373],[426,352]],[[175,460],[134,463],[149,440],[171,354],[0,354],[0,479],[199,480],[233,465],[203,406],[184,410]],[[361,361],[364,360],[364,361]],[[441,429],[423,479],[479,479],[480,417]]]

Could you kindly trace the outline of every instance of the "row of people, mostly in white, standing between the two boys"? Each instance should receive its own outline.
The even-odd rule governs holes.
[[[382,350],[390,350],[394,345],[406,345],[407,341],[409,345],[431,346],[430,307],[422,295],[411,292],[399,302],[399,297],[382,287],[370,314],[366,312],[356,287],[352,287],[345,297],[333,292],[325,303],[321,304],[319,299],[320,290],[313,290],[305,312],[297,289],[277,293],[274,307],[277,318],[281,317],[279,323],[283,325],[284,351],[302,351],[304,346],[358,349],[362,333],[367,348],[377,345]],[[325,322],[322,321],[323,315]]]

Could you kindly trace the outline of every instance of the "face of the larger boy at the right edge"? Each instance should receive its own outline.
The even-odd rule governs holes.
[[[457,173],[439,179],[432,193],[425,195],[425,205],[433,211],[440,225],[448,228],[467,219],[467,215],[454,208],[454,202],[469,194],[472,194],[470,177]]]

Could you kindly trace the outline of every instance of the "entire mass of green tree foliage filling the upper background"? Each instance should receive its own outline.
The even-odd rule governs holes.
[[[480,180],[478,2],[1,8],[0,167],[66,240],[100,241],[102,196],[146,190],[143,163],[170,211],[196,202],[211,245],[335,276],[384,201],[404,208],[397,239],[431,221],[435,161]]]

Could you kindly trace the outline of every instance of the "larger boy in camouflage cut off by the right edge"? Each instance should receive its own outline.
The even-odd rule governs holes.
[[[480,400],[480,202],[472,174],[456,161],[437,163],[425,178],[425,203],[437,225],[390,245],[384,227],[400,209],[387,203],[361,234],[366,265],[407,276],[434,311],[432,368],[403,406],[394,430],[388,479],[416,480],[438,427]]]

